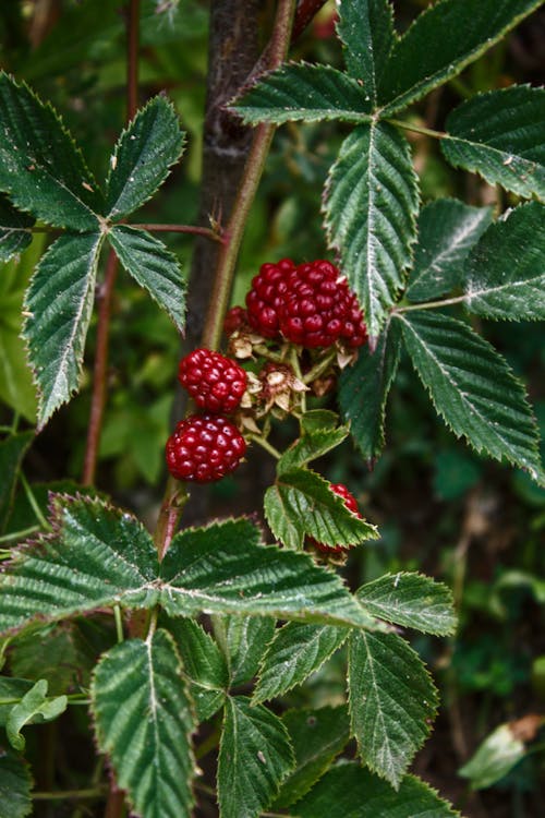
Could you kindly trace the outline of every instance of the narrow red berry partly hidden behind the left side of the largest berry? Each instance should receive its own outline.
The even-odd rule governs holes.
[[[277,264],[262,264],[246,294],[250,326],[265,338],[279,335],[278,311],[288,293],[288,278],[295,269],[291,258]]]

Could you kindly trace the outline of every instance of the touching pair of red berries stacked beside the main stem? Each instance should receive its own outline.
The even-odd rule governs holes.
[[[178,380],[204,412],[180,421],[168,438],[168,469],[177,480],[220,480],[234,471],[246,452],[244,437],[226,417],[240,405],[246,373],[219,352],[194,349],[180,361]]]

